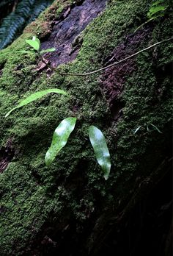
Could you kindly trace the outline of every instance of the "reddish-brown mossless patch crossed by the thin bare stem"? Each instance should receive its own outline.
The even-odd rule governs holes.
[[[124,42],[117,46],[111,55],[106,58],[104,64],[110,65],[139,51],[141,43],[148,40],[149,34],[149,29],[142,29],[133,35],[128,35]],[[122,114],[123,103],[120,101],[120,96],[126,77],[129,77],[135,70],[136,62],[133,57],[103,71],[101,88],[103,88],[103,92],[106,95],[114,120],[117,120],[119,115]]]

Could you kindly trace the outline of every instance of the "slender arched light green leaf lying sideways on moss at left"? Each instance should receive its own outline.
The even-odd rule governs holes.
[[[60,89],[48,89],[48,90],[40,90],[37,93],[32,93],[32,95],[30,95],[29,97],[27,97],[26,99],[23,99],[18,106],[13,107],[12,110],[10,110],[5,117],[7,117],[8,115],[10,115],[10,113],[12,113],[13,110],[16,110],[19,107],[23,107],[26,104],[29,104],[30,102],[34,102],[37,99],[42,98],[43,96],[45,96],[48,93],[59,93],[59,94],[64,94],[67,96],[67,93],[65,92],[65,90],[60,90]]]

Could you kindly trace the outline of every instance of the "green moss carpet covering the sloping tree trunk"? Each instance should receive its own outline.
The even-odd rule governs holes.
[[[61,3],[54,5],[54,17],[50,20],[57,18],[65,4],[69,1],[63,1],[63,7]],[[82,32],[83,43],[76,60],[60,65],[59,71],[81,73],[103,67],[114,49],[145,21],[149,6],[150,1],[144,0],[109,1],[106,10]],[[51,22],[48,11],[35,22],[44,23],[44,18]],[[169,38],[171,27],[169,17],[148,24],[146,38],[141,44],[136,43],[136,48],[133,45],[131,54]],[[133,71],[123,74],[121,93],[110,107],[101,73],[87,77],[56,73],[50,76],[46,71],[36,71],[38,60],[34,54],[15,53],[28,49],[24,39],[32,37],[29,29],[32,31],[32,24],[27,33],[0,54],[0,90],[4,93],[0,99],[1,148],[11,141],[14,151],[13,159],[0,175],[2,256],[31,255],[30,246],[45,223],[55,225],[54,235],[59,240],[72,220],[76,223],[76,229],[72,228],[76,236],[80,232],[85,234],[82,228],[86,223],[91,232],[93,220],[106,207],[114,204],[118,209],[119,200],[128,202],[136,177],[141,180],[158,168],[170,146],[171,41],[133,58]],[[45,37],[44,33],[41,29],[35,31],[40,38]],[[140,35],[140,31],[136,33]],[[128,49],[128,45],[125,47]],[[19,99],[47,88],[66,90],[70,98],[50,94],[4,118]],[[123,106],[122,115],[115,120],[112,112],[119,102]],[[76,129],[53,165],[47,168],[44,157],[54,129],[68,116],[78,118]],[[110,149],[112,166],[107,181],[89,144],[89,125],[103,131]],[[139,126],[141,129],[134,134]]]

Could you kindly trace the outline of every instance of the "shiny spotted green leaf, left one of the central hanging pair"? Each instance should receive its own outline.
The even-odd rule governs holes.
[[[54,161],[59,151],[66,145],[70,133],[76,125],[76,118],[69,117],[62,120],[59,126],[55,129],[52,138],[51,146],[45,154],[45,164],[50,166]]]

